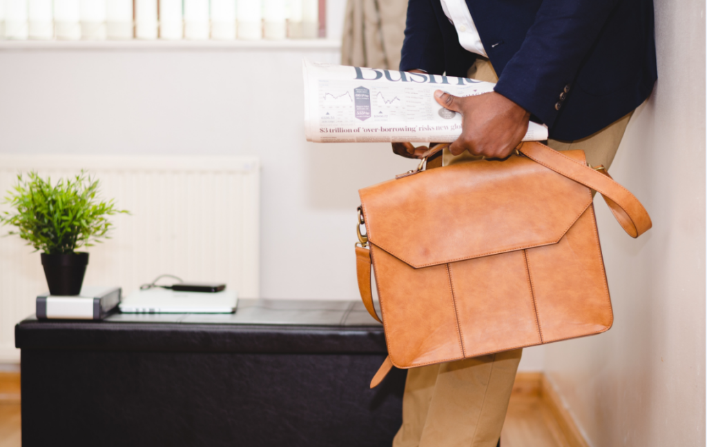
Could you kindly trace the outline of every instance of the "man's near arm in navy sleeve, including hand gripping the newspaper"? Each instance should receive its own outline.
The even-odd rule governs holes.
[[[493,93],[459,98],[438,90],[437,102],[463,117],[452,153],[505,158],[525,135],[530,113],[552,126],[613,8],[614,0],[544,0]]]

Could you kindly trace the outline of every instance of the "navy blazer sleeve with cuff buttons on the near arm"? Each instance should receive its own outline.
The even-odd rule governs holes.
[[[520,49],[503,68],[496,92],[552,127],[614,0],[544,0]],[[566,93],[565,93],[566,94]]]

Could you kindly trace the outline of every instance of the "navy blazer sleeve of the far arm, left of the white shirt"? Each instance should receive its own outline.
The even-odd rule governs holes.
[[[439,0],[408,2],[400,71],[420,69],[434,74],[445,71],[444,41],[432,1]]]

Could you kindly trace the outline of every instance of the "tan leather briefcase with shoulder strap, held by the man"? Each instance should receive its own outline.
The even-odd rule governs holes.
[[[440,148],[436,148],[440,150]],[[436,151],[435,150],[435,151]],[[523,143],[507,160],[414,171],[361,189],[358,287],[373,318],[373,263],[388,358],[413,368],[602,333],[612,326],[592,205],[632,237],[643,205],[581,150]],[[427,155],[431,155],[431,152]],[[369,249],[370,247],[370,249]]]

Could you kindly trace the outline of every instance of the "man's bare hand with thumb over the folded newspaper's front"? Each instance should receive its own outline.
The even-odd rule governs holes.
[[[437,90],[435,99],[462,114],[462,135],[449,147],[453,155],[468,150],[486,158],[506,158],[527,132],[530,113],[500,93],[456,97]]]

